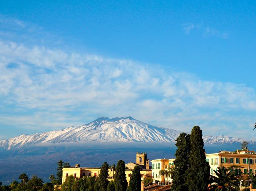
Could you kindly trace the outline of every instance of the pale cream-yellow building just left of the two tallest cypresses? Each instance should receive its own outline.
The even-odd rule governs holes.
[[[173,168],[173,161],[175,159],[154,159],[152,162],[152,173],[151,176],[153,180],[163,181],[163,177],[159,175],[160,170],[167,170],[168,168]],[[162,178],[162,180],[161,180]],[[165,181],[172,181],[170,175],[165,175]]]

